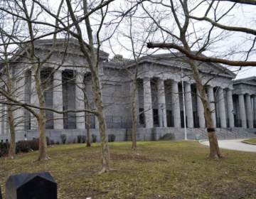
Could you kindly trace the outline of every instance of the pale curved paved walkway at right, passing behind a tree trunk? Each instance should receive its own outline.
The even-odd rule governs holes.
[[[246,139],[220,139],[218,145],[222,149],[256,152],[256,145],[242,143],[242,140]],[[210,145],[208,140],[201,140],[200,142],[204,145]]]

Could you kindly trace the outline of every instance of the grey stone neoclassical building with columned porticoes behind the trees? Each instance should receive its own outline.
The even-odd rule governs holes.
[[[51,41],[36,41],[38,57],[46,55]],[[66,48],[68,47],[68,48]],[[68,49],[68,50],[67,50]],[[22,55],[24,51],[20,51]],[[108,133],[116,134],[117,141],[131,139],[132,82],[136,78],[135,112],[137,114],[138,140],[157,140],[169,132],[206,128],[203,104],[191,69],[181,53],[147,55],[133,60],[115,55],[111,60],[108,54],[100,51],[98,71],[102,85],[102,99]],[[33,68],[24,56],[12,58],[14,88],[18,100],[38,105],[33,77]],[[14,62],[15,60],[15,62]],[[92,78],[87,62],[71,40],[58,40],[55,53],[41,68],[42,88],[47,107],[58,111],[70,109],[95,109]],[[2,67],[2,70],[4,65]],[[198,63],[203,78],[213,120],[216,128],[242,127],[253,131],[256,118],[256,77],[235,80],[235,74],[214,63]],[[137,77],[134,72],[138,71]],[[4,80],[4,77],[2,77]],[[4,88],[4,82],[1,87]],[[4,100],[4,97],[1,97]],[[185,116],[185,117],[184,117]],[[38,124],[28,110],[17,107],[16,139],[38,137]],[[76,139],[85,134],[87,118],[90,118],[90,131],[99,134],[97,117],[86,112],[58,114],[46,112],[47,134],[55,141],[60,134]],[[6,106],[1,106],[0,139],[9,139],[9,125]]]

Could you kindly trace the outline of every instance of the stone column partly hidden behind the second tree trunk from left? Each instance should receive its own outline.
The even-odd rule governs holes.
[[[31,104],[39,107],[39,99],[36,91],[35,71],[31,69]],[[38,112],[38,109],[34,109]],[[31,129],[38,129],[38,120],[31,114]]]

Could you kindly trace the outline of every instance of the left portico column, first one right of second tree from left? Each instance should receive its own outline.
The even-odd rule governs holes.
[[[63,111],[62,70],[53,74],[53,108]],[[53,112],[53,129],[63,129],[63,114]]]

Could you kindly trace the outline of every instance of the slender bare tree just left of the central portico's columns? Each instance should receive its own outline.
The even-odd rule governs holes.
[[[132,8],[131,4],[131,8]],[[129,93],[131,97],[131,114],[132,114],[132,150],[137,149],[137,139],[136,139],[136,129],[137,129],[137,118],[140,114],[145,114],[146,112],[150,112],[152,107],[149,109],[145,109],[143,112],[137,112],[139,104],[136,102],[136,92],[138,90],[138,82],[137,79],[145,70],[139,70],[139,59],[142,58],[143,55],[146,55],[146,49],[144,48],[146,45],[146,41],[149,39],[151,35],[152,28],[151,26],[148,29],[144,29],[141,20],[137,20],[136,9],[130,11],[125,17],[124,23],[127,24],[121,28],[119,31],[119,35],[116,40],[119,42],[119,45],[122,46],[125,50],[128,50],[132,53],[132,60],[124,62],[122,59],[117,59],[122,70],[124,72],[123,75],[132,80],[132,84],[130,85],[132,92]],[[122,36],[119,39],[119,36]],[[141,38],[142,36],[142,38]],[[123,44],[123,39],[127,38],[127,43],[130,43],[130,46],[127,46],[127,43]],[[120,41],[122,40],[122,41]],[[131,66],[132,65],[132,66]]]

